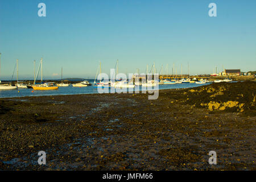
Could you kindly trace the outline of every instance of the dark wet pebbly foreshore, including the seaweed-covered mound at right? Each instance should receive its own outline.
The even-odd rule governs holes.
[[[255,170],[255,90],[256,82],[237,82],[159,90],[158,100],[142,93],[4,98],[0,169]],[[38,151],[46,151],[46,165]],[[208,163],[209,151],[217,165]]]

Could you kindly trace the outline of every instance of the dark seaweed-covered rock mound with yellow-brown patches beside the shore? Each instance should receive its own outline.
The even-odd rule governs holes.
[[[256,82],[220,82],[189,90],[187,104],[210,111],[237,112],[255,116]]]

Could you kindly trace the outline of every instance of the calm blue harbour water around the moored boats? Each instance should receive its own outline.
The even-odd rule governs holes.
[[[207,84],[159,85],[159,90],[160,89],[192,88],[192,87],[196,87],[196,86],[209,85],[209,84],[210,83],[207,83]],[[0,90],[0,98],[98,93],[97,88],[93,88],[93,86],[85,86],[85,87],[81,87],[81,88],[73,87],[73,86],[63,86],[63,87],[60,86],[58,90],[34,90],[34,92],[32,92],[32,91],[33,91],[33,89]],[[127,92],[128,92],[128,90],[127,90]]]

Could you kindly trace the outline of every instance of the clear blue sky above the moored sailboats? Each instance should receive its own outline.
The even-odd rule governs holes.
[[[46,3],[46,17],[38,4]],[[209,17],[208,5],[217,5]],[[144,72],[175,64],[180,73],[256,70],[256,1],[0,1],[0,78],[32,78],[43,57],[44,78],[94,78],[100,61],[109,73]]]

